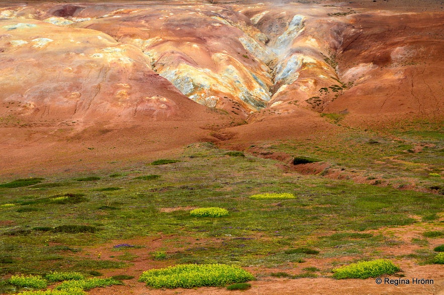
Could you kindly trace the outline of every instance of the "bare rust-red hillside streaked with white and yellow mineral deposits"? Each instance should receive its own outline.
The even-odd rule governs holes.
[[[442,120],[444,11],[414,4],[4,2],[0,165]]]

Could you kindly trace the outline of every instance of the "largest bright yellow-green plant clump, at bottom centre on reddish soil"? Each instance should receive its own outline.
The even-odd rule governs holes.
[[[249,280],[254,280],[251,273],[226,264],[179,264],[144,271],[139,278],[154,288],[220,287]]]

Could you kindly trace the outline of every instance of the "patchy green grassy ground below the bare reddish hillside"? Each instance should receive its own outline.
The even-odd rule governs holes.
[[[375,145],[369,145],[369,152]],[[288,143],[277,149],[289,149]],[[430,157],[435,165],[431,155],[441,152],[430,150],[423,157]],[[320,156],[327,157],[327,152],[331,151],[324,150]],[[403,159],[412,155],[407,152]],[[399,246],[401,241],[377,231],[362,231],[442,224],[444,198],[438,193],[285,173],[277,163],[250,154],[231,156],[201,143],[160,164],[147,161],[115,171],[92,171],[91,175],[34,175],[32,181],[20,178],[0,185],[0,275],[44,275],[61,268],[82,273],[125,268],[134,259],[132,249],[146,245],[128,245],[125,255],[112,259],[85,257],[83,248],[116,239],[124,245],[126,239],[156,235],[222,241],[190,245],[184,251],[172,251],[182,241],[165,242],[159,250],[168,253],[162,256],[168,265],[281,267],[308,257],[399,258],[381,257],[378,247]],[[352,165],[351,160],[347,163]],[[437,177],[430,181],[436,186],[442,182]],[[270,194],[294,199],[251,198]],[[196,218],[191,210],[164,210],[214,207],[226,209],[229,215]],[[433,263],[436,253],[427,243],[433,238],[418,240],[423,251],[408,258]],[[335,266],[316,271],[331,275]],[[11,290],[0,280],[0,292]]]

